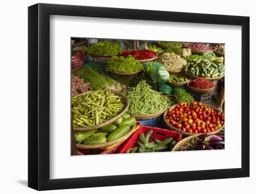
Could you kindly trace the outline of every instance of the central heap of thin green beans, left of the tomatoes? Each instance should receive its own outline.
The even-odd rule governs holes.
[[[125,91],[130,107],[128,112],[134,115],[154,114],[168,107],[168,100],[160,92],[151,89],[145,80]]]

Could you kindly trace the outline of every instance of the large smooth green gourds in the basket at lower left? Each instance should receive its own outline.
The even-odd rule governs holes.
[[[74,137],[77,144],[95,145],[106,143],[126,135],[135,124],[136,119],[125,113],[118,120],[105,127],[89,131],[75,131]]]

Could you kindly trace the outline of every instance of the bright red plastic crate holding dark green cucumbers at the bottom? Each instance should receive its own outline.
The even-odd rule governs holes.
[[[141,133],[146,134],[150,129],[153,130],[153,134],[150,136],[148,142],[151,142],[154,139],[165,140],[168,137],[173,137],[176,142],[179,142],[182,139],[182,134],[179,134],[174,131],[169,131],[168,129],[162,129],[157,127],[147,127],[141,126],[126,142],[126,144],[121,148],[119,154],[125,153],[128,149],[135,147],[135,144],[139,140],[139,135]]]

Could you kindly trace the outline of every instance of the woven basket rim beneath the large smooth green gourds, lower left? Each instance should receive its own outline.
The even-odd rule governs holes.
[[[127,140],[133,134],[135,127],[136,127],[136,123],[133,127],[131,127],[130,131],[127,134],[125,134],[124,136],[122,136],[114,141],[108,141],[106,143],[94,144],[94,145],[76,144],[76,147],[80,148],[80,149],[101,149],[101,148],[104,149],[104,148],[112,146],[120,141]]]

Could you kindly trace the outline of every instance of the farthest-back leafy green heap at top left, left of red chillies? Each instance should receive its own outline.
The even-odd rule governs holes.
[[[117,42],[101,41],[93,43],[89,47],[85,47],[84,51],[88,52],[88,54],[109,56],[111,54],[120,54],[123,48],[119,47]]]

